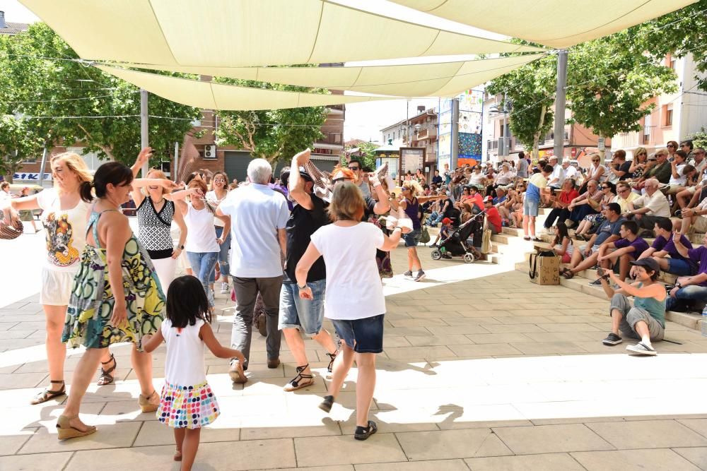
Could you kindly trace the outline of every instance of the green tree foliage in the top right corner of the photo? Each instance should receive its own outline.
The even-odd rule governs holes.
[[[646,52],[657,60],[666,54],[684,57],[692,54],[696,62],[697,88],[707,90],[707,0],[663,15],[629,29],[631,46],[636,54]]]

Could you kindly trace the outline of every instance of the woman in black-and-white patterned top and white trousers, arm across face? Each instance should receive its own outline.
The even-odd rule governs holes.
[[[151,169],[147,176],[149,179],[167,179],[158,169]],[[192,192],[171,193],[163,186],[136,186],[139,184],[133,185],[132,198],[137,207],[138,240],[152,259],[162,291],[166,293],[175,278],[177,258],[184,250],[187,239],[187,225],[180,211],[175,211],[174,200],[183,199]],[[176,247],[171,234],[172,222],[180,229]]]

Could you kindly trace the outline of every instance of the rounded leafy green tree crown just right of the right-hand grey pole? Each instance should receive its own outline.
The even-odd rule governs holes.
[[[655,109],[655,104],[645,102],[677,90],[672,69],[636,54],[630,44],[631,33],[624,30],[571,49],[567,65],[571,122],[609,138],[639,131],[641,118]]]

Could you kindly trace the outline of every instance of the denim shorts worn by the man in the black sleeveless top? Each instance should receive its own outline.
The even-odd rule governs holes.
[[[308,282],[314,299],[300,298],[297,283],[283,283],[280,289],[280,314],[277,328],[297,328],[305,335],[317,335],[324,321],[324,295],[327,280]]]

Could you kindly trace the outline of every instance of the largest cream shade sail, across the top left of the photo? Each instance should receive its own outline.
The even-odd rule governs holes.
[[[20,1],[90,60],[243,67],[542,50],[328,0]]]

